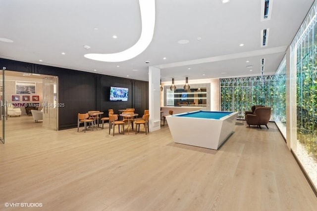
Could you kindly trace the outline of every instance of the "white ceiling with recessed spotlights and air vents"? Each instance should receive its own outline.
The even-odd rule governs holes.
[[[116,53],[138,41],[138,0],[0,0],[0,38],[14,41],[0,42],[0,58],[143,81],[151,65],[161,68],[162,82],[260,75],[265,58],[264,75],[271,75],[314,0],[270,0],[266,21],[261,2],[156,0],[148,48],[124,62],[101,62],[84,54]],[[261,30],[267,28],[267,46],[261,47]],[[184,39],[189,43],[178,43]]]

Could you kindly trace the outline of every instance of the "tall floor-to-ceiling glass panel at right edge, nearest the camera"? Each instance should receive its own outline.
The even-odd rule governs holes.
[[[317,187],[317,3],[315,2],[305,18],[298,34],[291,43],[291,81],[296,82],[292,99],[296,104],[291,112],[297,118],[292,120],[291,149],[305,169],[311,182]],[[293,105],[293,103],[290,103]],[[295,116],[294,115],[294,116]]]

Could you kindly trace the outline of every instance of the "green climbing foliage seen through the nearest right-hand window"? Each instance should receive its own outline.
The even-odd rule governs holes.
[[[317,159],[317,27],[310,29],[297,44],[297,139]]]

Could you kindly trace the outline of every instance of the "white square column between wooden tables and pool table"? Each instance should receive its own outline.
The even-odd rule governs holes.
[[[150,112],[150,131],[160,129],[160,89],[159,81],[160,69],[149,67],[149,112]]]

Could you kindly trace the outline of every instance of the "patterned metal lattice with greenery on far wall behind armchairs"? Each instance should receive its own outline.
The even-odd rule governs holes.
[[[253,105],[272,108],[271,121],[286,121],[285,72],[273,76],[220,79],[221,111],[241,115]]]

